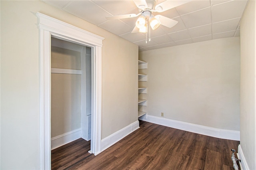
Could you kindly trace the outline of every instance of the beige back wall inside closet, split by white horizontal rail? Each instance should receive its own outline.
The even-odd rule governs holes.
[[[81,53],[51,48],[51,66],[81,70]],[[81,128],[81,75],[51,74],[51,137]]]

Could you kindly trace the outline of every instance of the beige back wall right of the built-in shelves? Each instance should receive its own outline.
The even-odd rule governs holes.
[[[141,51],[149,115],[240,130],[240,38]]]

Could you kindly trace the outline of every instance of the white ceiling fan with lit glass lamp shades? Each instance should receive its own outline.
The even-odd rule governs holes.
[[[170,10],[171,8],[175,8],[176,6],[180,6],[182,4],[190,2],[190,0],[165,0],[164,2],[161,2],[159,4],[157,4],[157,0],[133,0],[133,2],[136,4],[138,10],[140,11],[138,14],[108,16],[106,17],[106,19],[115,20],[140,16],[135,23],[135,27],[132,30],[132,33],[147,33],[148,22],[152,30],[156,30],[161,24],[168,28],[172,28],[178,23],[178,21],[172,20],[171,18],[167,18],[162,15],[154,16],[152,13],[160,13],[166,10]]]

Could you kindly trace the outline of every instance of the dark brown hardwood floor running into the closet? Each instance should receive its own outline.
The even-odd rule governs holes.
[[[52,150],[52,169],[233,170],[231,149],[238,144],[140,121],[138,130],[97,156],[82,138]]]

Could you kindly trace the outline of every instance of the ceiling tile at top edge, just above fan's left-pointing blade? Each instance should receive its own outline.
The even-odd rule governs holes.
[[[134,2],[130,0],[92,0],[92,2],[112,15],[130,14],[127,13],[129,10],[138,9]],[[137,13],[139,13],[138,10]]]

